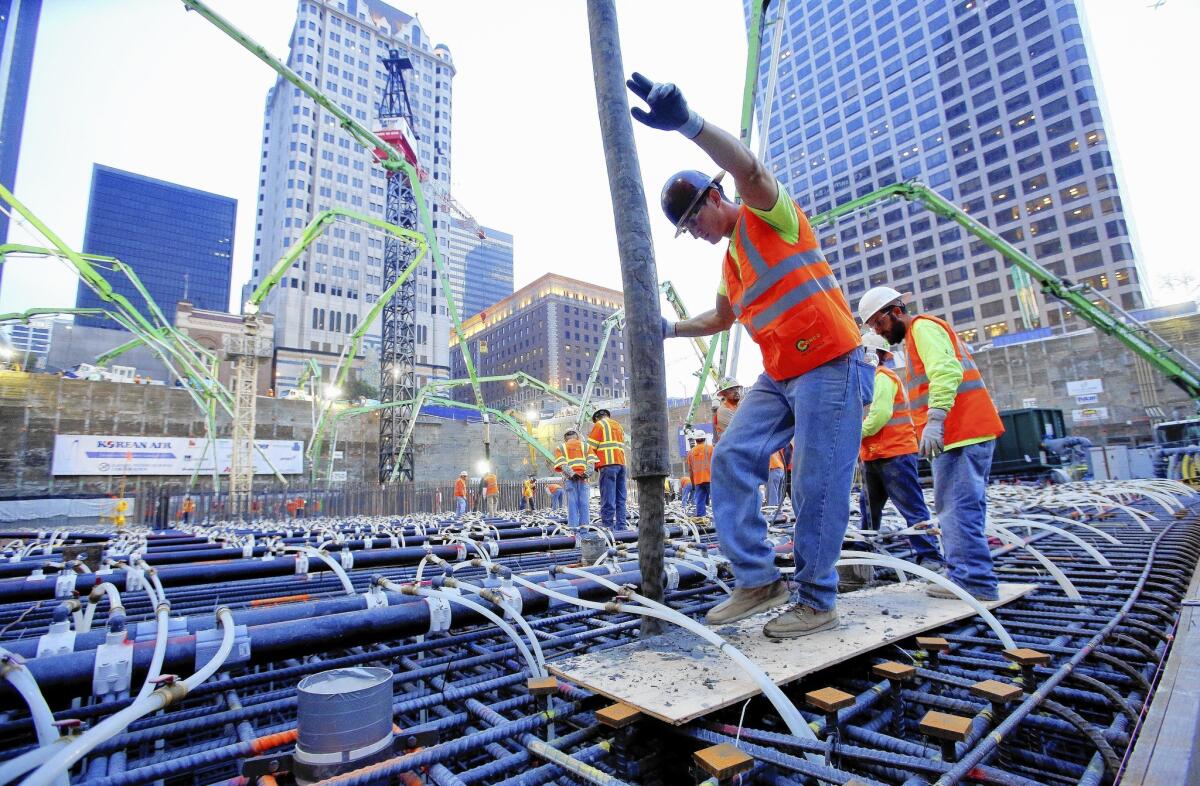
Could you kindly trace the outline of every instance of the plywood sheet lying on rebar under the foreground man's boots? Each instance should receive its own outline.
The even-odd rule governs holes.
[[[974,614],[961,600],[929,598],[926,586],[910,582],[839,595],[840,625],[803,638],[763,636],[763,623],[779,610],[714,630],[782,685]],[[1004,583],[1000,600],[984,605],[995,608],[1033,589],[1033,584]],[[563,679],[668,724],[685,724],[758,694],[750,677],[716,647],[673,626],[661,636],[556,660],[547,667]]]

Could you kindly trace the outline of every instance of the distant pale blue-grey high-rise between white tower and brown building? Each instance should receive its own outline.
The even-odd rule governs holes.
[[[460,218],[450,224],[446,260],[463,318],[512,294],[512,235]]]

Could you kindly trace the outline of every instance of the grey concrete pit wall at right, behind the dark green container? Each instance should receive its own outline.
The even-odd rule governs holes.
[[[1148,324],[1178,352],[1200,361],[1200,314]],[[1183,390],[1116,338],[1094,329],[980,349],[974,358],[998,408],[1018,409],[1026,398],[1034,398],[1037,407],[1062,409],[1070,433],[1096,444],[1151,442],[1152,418],[1147,408],[1157,407],[1165,420],[1195,414],[1195,404]],[[1104,390],[1094,403],[1080,403],[1068,395],[1067,383],[1081,379],[1103,380]],[[1106,408],[1108,418],[1073,422],[1073,410],[1094,408]]]

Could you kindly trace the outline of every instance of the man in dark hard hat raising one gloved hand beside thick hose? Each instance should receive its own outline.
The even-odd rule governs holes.
[[[767,481],[770,454],[794,437],[797,596],[764,632],[790,638],[833,628],[834,563],[850,523],[846,500],[862,408],[870,401],[870,368],[862,360],[854,317],[808,218],[770,170],[737,138],[691,112],[674,85],[640,73],[628,85],[649,106],[648,112],[632,109],[636,120],[692,139],[733,176],[742,197],[740,205],[726,199],[724,172],[710,178],[694,170],[672,176],[661,196],[677,235],[728,244],[715,307],[678,323],[664,319],[664,338],[709,336],[738,320],[762,350],[766,370],[713,456],[720,488],[713,518],[737,588],[708,612],[708,622],[744,619],[790,598],[757,491]]]

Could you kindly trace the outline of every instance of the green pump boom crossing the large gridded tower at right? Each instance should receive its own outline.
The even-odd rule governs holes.
[[[858,199],[852,199],[827,212],[814,216],[810,223],[814,227],[832,224],[842,216],[895,197],[901,197],[910,202],[919,202],[938,216],[948,218],[970,232],[1042,284],[1042,292],[1070,305],[1075,310],[1075,313],[1085,322],[1093,325],[1100,332],[1108,334],[1123,343],[1200,403],[1200,365],[1175,349],[1162,336],[1105,298],[1102,293],[1096,292],[1087,284],[1073,283],[1067,278],[1056,276],[1039,265],[1033,257],[1030,257],[923,184],[910,181],[884,186]],[[1100,299],[1104,305],[1094,302],[1092,298]]]

